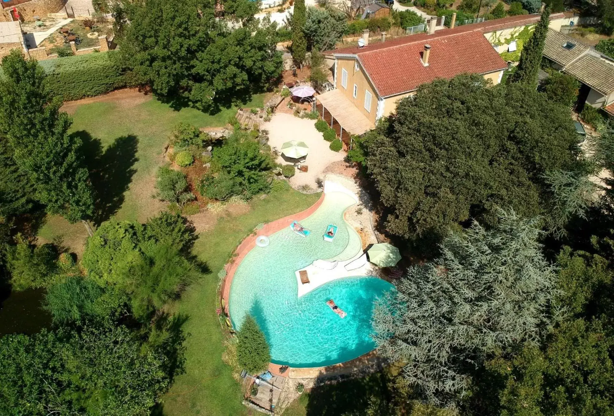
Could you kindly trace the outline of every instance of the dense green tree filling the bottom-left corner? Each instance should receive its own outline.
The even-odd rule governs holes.
[[[149,414],[169,385],[165,360],[123,326],[4,336],[0,414]]]

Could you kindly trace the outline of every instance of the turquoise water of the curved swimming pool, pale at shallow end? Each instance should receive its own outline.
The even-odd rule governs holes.
[[[330,192],[317,211],[301,221],[312,234],[303,238],[289,228],[270,235],[270,245],[255,247],[239,265],[228,307],[235,328],[250,313],[260,324],[273,363],[317,367],[343,363],[373,350],[370,337],[374,300],[393,288],[375,277],[349,277],[320,286],[297,298],[295,270],[316,259],[346,260],[360,248],[360,237],[343,221],[354,199]],[[328,224],[339,227],[324,241]],[[341,319],[325,304],[335,300],[348,313]]]

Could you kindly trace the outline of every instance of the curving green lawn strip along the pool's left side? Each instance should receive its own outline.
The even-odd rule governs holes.
[[[200,234],[194,253],[211,270],[203,280],[192,285],[176,305],[176,311],[188,316],[184,325],[190,334],[186,342],[186,373],[177,377],[164,397],[165,415],[246,415],[239,384],[231,377],[230,367],[222,362],[222,332],[217,319],[217,273],[246,235],[261,222],[270,222],[313,205],[318,194],[303,195],[290,188],[265,198],[255,198],[251,210],[240,216],[227,214],[209,232]]]

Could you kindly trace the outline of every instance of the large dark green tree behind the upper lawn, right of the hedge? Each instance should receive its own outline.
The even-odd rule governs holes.
[[[123,2],[117,13],[123,63],[153,92],[216,111],[281,74],[276,27],[260,23],[247,2],[211,0]],[[236,22],[238,21],[238,22]]]

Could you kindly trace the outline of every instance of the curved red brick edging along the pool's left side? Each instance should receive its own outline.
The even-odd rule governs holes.
[[[276,219],[273,222],[269,222],[268,224],[265,224],[262,229],[254,230],[255,232],[252,232],[252,234],[248,235],[246,238],[243,239],[243,241],[241,241],[241,243],[239,243],[233,253],[233,257],[231,257],[232,261],[224,266],[224,269],[226,270],[226,276],[224,277],[224,281],[222,284],[222,301],[224,305],[224,312],[227,314],[229,319],[230,312],[228,310],[228,297],[230,297],[230,285],[232,284],[232,279],[233,277],[235,277],[235,272],[236,269],[239,267],[239,264],[241,264],[241,261],[243,261],[243,258],[246,256],[246,254],[249,253],[249,251],[255,247],[256,237],[258,237],[258,235],[269,236],[271,234],[274,234],[279,230],[282,230],[285,227],[289,226],[290,221],[302,221],[303,219],[316,212],[317,208],[320,208],[320,205],[322,205],[322,202],[324,202],[324,192],[322,192],[320,199],[317,200],[314,205],[309,206],[309,208],[307,208],[305,211],[301,211],[298,214],[292,214],[284,218]]]

